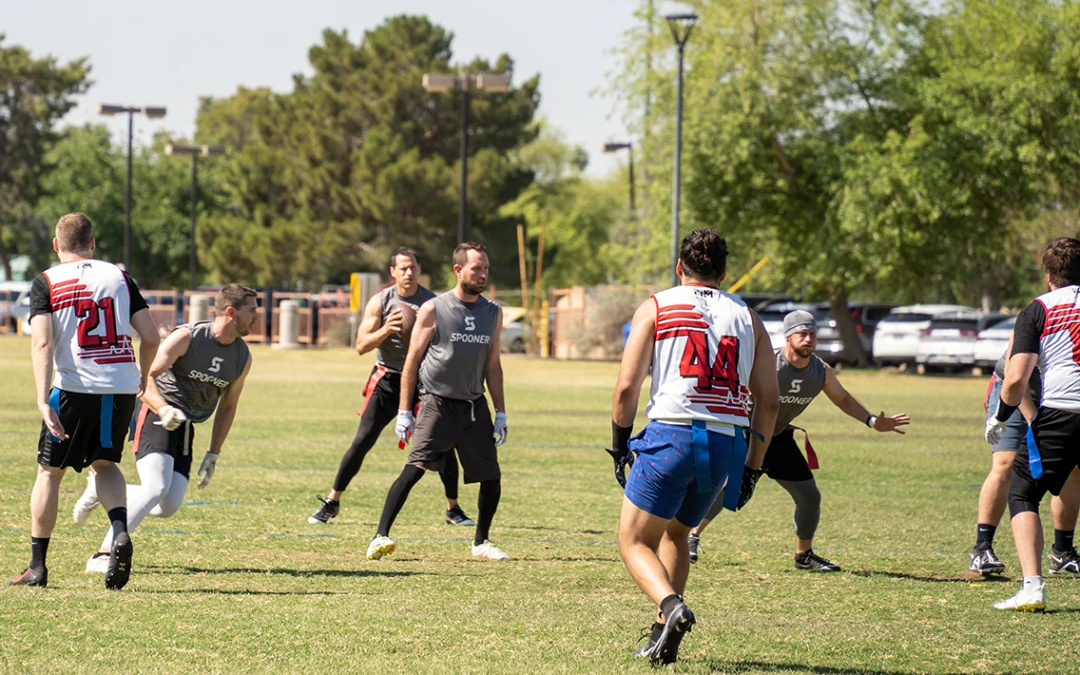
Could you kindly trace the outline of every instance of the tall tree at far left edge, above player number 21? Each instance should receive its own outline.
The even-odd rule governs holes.
[[[90,65],[79,58],[60,65],[33,58],[21,46],[4,46],[0,33],[0,265],[11,279],[11,256],[26,251],[27,222],[41,198],[40,178],[51,168],[45,153],[56,140],[54,126],[90,86]]]

